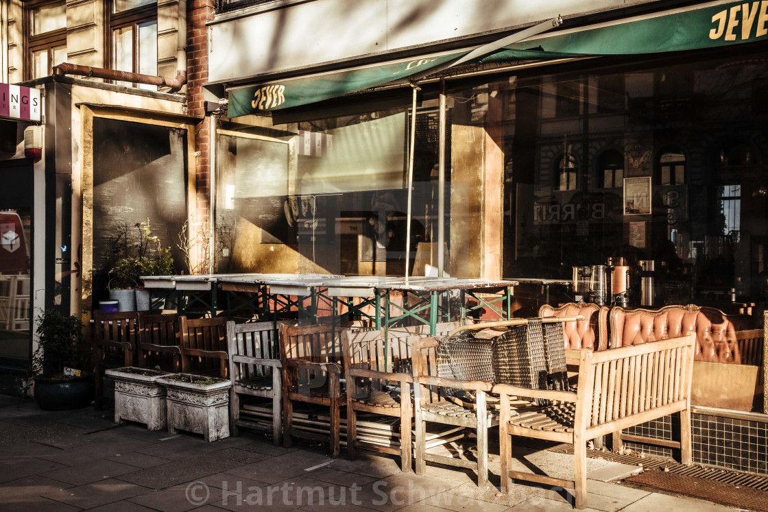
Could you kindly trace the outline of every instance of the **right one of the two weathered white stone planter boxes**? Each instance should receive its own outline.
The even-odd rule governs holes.
[[[158,381],[167,391],[168,432],[203,434],[206,441],[230,437],[230,388],[232,382],[213,378],[213,384],[196,384],[209,377],[177,373]]]

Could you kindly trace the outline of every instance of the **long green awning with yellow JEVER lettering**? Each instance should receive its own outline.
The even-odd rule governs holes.
[[[423,78],[430,71],[440,71],[456,61],[462,61],[462,64],[493,64],[653,54],[737,45],[765,39],[766,34],[768,2],[710,2],[658,15],[629,18],[553,35],[538,35],[505,45],[491,55],[478,55],[478,58],[467,61],[462,61],[462,58],[471,53],[477,55],[478,48],[233,89],[230,91],[227,116],[276,111],[409,78]]]

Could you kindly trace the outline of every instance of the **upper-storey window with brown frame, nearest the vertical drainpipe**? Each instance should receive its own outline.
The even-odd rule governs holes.
[[[157,74],[157,3],[116,0],[110,15],[111,66],[119,71]],[[157,86],[130,84],[142,89]]]

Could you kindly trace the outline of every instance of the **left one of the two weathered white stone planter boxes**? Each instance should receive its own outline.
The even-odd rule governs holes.
[[[114,379],[114,422],[125,420],[147,424],[147,430],[161,430],[167,421],[165,388],[157,382],[169,372],[147,368],[110,369],[104,372]]]

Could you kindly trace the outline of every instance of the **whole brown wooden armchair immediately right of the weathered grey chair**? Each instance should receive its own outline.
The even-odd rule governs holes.
[[[331,457],[339,456],[340,408],[346,403],[341,388],[341,335],[333,325],[280,325],[280,362],[283,365],[283,446],[293,436],[330,442]],[[293,402],[329,408],[329,435],[293,426]]]

